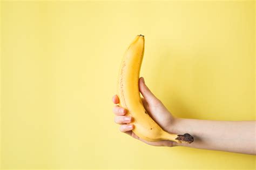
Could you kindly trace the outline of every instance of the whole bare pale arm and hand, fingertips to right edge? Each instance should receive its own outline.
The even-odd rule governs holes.
[[[149,90],[143,78],[139,79],[139,91],[142,93],[142,101],[147,113],[163,130],[175,134],[189,133],[194,137],[194,141],[191,144],[178,144],[170,140],[149,142],[140,139],[132,132],[133,118],[126,115],[125,108],[118,106],[119,98],[114,95],[112,98],[113,103],[116,104],[113,107],[114,122],[120,124],[121,132],[153,146],[185,146],[256,155],[256,121],[213,121],[174,117]]]

